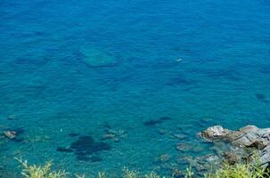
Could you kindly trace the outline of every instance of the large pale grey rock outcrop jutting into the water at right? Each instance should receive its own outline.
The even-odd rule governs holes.
[[[270,166],[270,128],[258,128],[247,125],[233,131],[214,125],[199,133],[205,142],[223,142],[230,146],[230,150],[223,152],[223,157],[230,164],[250,158],[257,154],[260,166]]]

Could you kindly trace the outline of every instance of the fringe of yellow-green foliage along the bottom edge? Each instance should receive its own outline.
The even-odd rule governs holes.
[[[85,175],[70,175],[64,170],[52,171],[52,162],[47,162],[44,166],[29,166],[28,162],[22,159],[16,158],[20,165],[22,166],[21,174],[26,178],[67,178],[67,177],[76,177],[76,178],[86,178]],[[93,177],[93,176],[92,176]],[[105,173],[98,173],[95,177],[97,178],[106,178]],[[110,176],[108,176],[110,177]],[[120,178],[165,178],[151,172],[150,174],[141,175],[135,170],[129,170],[127,167],[122,169],[122,175]],[[172,176],[174,178],[174,176]],[[196,174],[192,172],[192,167],[188,167],[185,170],[184,178],[196,178]],[[270,177],[270,172],[266,168],[262,168],[258,163],[252,164],[235,164],[229,165],[224,164],[219,169],[213,173],[207,173],[204,175],[204,178],[264,178]]]

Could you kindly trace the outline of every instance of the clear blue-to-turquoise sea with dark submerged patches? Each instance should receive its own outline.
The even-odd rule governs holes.
[[[0,94],[3,169],[170,174],[210,125],[270,126],[270,2],[2,0]]]

